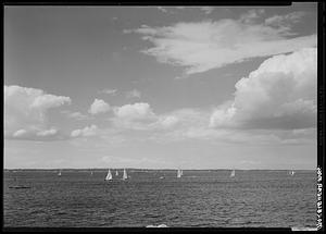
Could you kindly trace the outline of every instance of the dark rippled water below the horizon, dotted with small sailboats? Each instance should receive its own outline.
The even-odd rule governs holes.
[[[288,227],[316,225],[316,173],[129,170],[4,172],[4,226]],[[165,176],[160,180],[160,176]],[[16,181],[14,178],[16,177]],[[9,188],[27,185],[29,189]]]

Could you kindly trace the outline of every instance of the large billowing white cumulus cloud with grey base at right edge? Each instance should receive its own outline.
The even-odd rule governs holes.
[[[235,99],[211,115],[212,127],[316,127],[317,49],[265,60],[236,84]]]

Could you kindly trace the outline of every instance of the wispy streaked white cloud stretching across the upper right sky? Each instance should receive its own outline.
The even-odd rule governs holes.
[[[163,27],[141,25],[125,33],[141,35],[153,45],[141,52],[155,57],[159,62],[184,66],[187,75],[316,46],[316,35],[293,37],[291,24],[272,24],[273,20],[258,23],[255,19],[262,13],[249,11],[238,20],[180,22]],[[298,21],[288,17],[288,22],[291,20]]]

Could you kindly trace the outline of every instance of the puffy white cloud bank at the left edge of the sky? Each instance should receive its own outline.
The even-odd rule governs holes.
[[[42,137],[48,128],[48,110],[70,104],[71,98],[46,94],[41,89],[4,86],[5,137]]]

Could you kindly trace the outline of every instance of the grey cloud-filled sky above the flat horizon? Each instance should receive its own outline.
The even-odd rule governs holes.
[[[4,168],[315,169],[317,4],[5,7]]]

